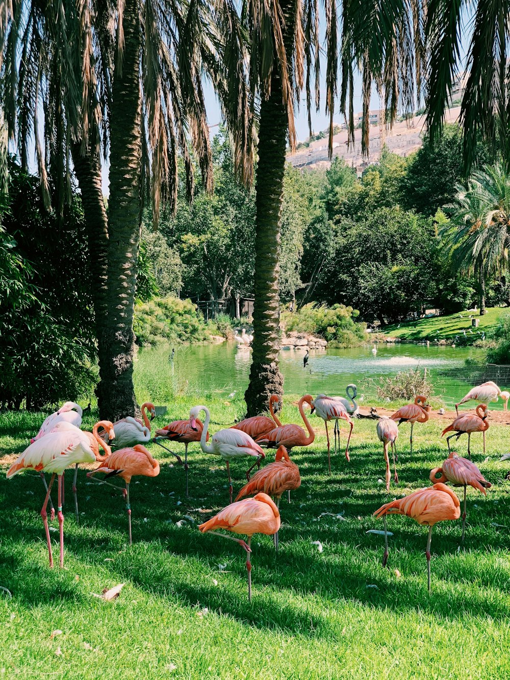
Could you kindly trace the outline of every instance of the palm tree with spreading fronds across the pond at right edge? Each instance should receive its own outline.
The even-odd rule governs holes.
[[[450,222],[440,235],[456,267],[474,271],[479,282],[480,314],[486,313],[486,279],[507,267],[510,245],[510,177],[503,165],[471,175],[457,187],[447,206]]]

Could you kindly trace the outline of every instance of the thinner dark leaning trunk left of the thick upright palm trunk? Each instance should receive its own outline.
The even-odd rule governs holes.
[[[107,328],[107,265],[108,265],[108,219],[99,155],[86,151],[82,154],[81,143],[71,145],[75,175],[82,192],[82,204],[88,239],[88,260],[92,269],[92,301],[96,324],[99,375],[107,359],[104,333]]]

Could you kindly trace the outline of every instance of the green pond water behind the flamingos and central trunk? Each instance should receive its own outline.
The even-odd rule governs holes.
[[[288,394],[345,394],[345,386],[354,383],[364,402],[375,398],[370,379],[396,375],[408,369],[427,369],[435,394],[452,406],[471,388],[473,375],[464,368],[466,359],[483,361],[484,352],[473,347],[426,347],[425,345],[377,345],[352,350],[311,351],[303,368],[304,350],[282,350],[280,369],[284,390]],[[175,393],[217,394],[233,398],[248,385],[252,353],[235,343],[219,345],[177,345],[173,360],[171,347],[140,350],[136,373],[143,389],[168,400]],[[161,385],[165,386],[162,392]],[[502,379],[500,386],[506,387]],[[237,396],[239,396],[237,394]],[[156,398],[156,397],[154,397]],[[494,405],[502,407],[501,402]]]

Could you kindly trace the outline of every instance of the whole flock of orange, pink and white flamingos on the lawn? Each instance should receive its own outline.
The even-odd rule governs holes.
[[[279,399],[273,394],[269,400],[269,412],[267,415],[258,415],[254,418],[247,418],[241,422],[216,432],[209,438],[210,414],[207,407],[199,405],[190,410],[188,420],[176,420],[168,424],[165,428],[156,430],[153,441],[165,447],[163,442],[184,443],[184,469],[186,471],[186,496],[188,495],[188,445],[191,442],[199,442],[203,452],[220,456],[226,462],[228,473],[229,500],[230,505],[226,506],[210,520],[201,524],[201,532],[216,531],[219,529],[227,530],[233,534],[241,534],[247,537],[247,541],[236,538],[228,534],[216,534],[225,539],[231,539],[241,545],[246,551],[248,570],[248,598],[252,596],[252,581],[250,562],[251,547],[250,541],[253,534],[273,535],[275,549],[278,550],[278,531],[280,526],[279,500],[285,492],[290,492],[299,488],[301,477],[298,466],[290,460],[288,452],[296,446],[308,446],[313,443],[315,434],[307,416],[305,415],[304,405],[309,405],[311,413],[316,412],[319,418],[324,420],[326,425],[326,437],[328,442],[328,467],[331,472],[330,464],[330,439],[328,432],[328,422],[334,421],[335,453],[339,444],[339,420],[345,420],[350,425],[349,437],[345,447],[345,457],[349,458],[349,442],[353,428],[352,417],[359,415],[358,405],[354,401],[356,387],[348,386],[347,396],[349,398],[326,396],[319,394],[313,398],[307,394],[299,400],[299,411],[306,427],[303,428],[296,424],[283,425],[275,412]],[[473,388],[459,404],[456,404],[457,418],[443,431],[443,435],[452,432],[447,437],[449,456],[443,465],[430,472],[432,486],[415,491],[409,496],[398,498],[392,503],[386,503],[375,511],[376,517],[384,519],[385,550],[383,565],[386,566],[388,560],[388,534],[386,528],[386,515],[398,514],[407,515],[416,520],[418,524],[428,526],[428,541],[426,547],[428,590],[430,591],[430,540],[432,537],[432,527],[442,520],[458,520],[460,517],[460,501],[456,494],[446,486],[445,483],[452,483],[453,486],[464,487],[464,509],[462,514],[462,543],[464,542],[464,532],[466,524],[466,487],[473,486],[483,494],[490,483],[483,477],[477,466],[471,461],[471,434],[473,432],[483,432],[483,450],[485,452],[485,432],[489,427],[488,404],[498,401],[501,396],[505,401],[510,397],[508,392],[501,392],[500,388],[492,382],[483,383]],[[475,413],[465,413],[458,415],[458,406],[467,401],[478,401]],[[41,508],[41,517],[44,522],[46,541],[48,542],[48,553],[50,556],[50,566],[53,566],[52,546],[50,542],[50,531],[48,528],[48,504],[50,505],[51,519],[54,519],[55,510],[52,504],[50,492],[54,479],[58,477],[58,505],[57,517],[60,532],[60,566],[64,561],[64,537],[63,537],[63,500],[64,471],[68,466],[75,466],[73,479],[73,495],[75,502],[76,518],[78,520],[78,498],[76,493],[76,481],[78,465],[80,463],[99,462],[99,467],[87,474],[87,477],[94,479],[98,483],[108,484],[117,490],[121,490],[126,500],[128,514],[129,543],[131,544],[131,505],[129,502],[129,484],[131,478],[136,475],[146,477],[156,477],[159,474],[159,463],[153,458],[144,444],[148,443],[152,437],[150,420],[147,415],[149,411],[151,420],[154,418],[155,409],[151,403],[145,403],[141,407],[142,420],[135,418],[124,418],[112,423],[101,420],[92,428],[92,432],[80,430],[82,424],[82,409],[78,404],[67,402],[48,418],[41,425],[37,435],[31,439],[31,444],[19,458],[10,466],[7,471],[7,479],[14,477],[22,470],[35,470],[40,473],[41,479],[46,488],[46,497]],[[199,415],[205,413],[205,420],[202,423]],[[388,447],[392,449],[394,464],[394,482],[398,483],[396,473],[396,439],[398,437],[398,426],[403,422],[411,424],[410,445],[412,452],[413,445],[413,426],[417,422],[426,422],[429,418],[430,406],[426,403],[424,396],[417,396],[414,403],[398,409],[390,417],[382,416],[377,420],[377,436],[384,446],[384,459],[386,462],[386,490],[390,490],[390,460]],[[461,458],[454,452],[450,452],[449,440],[452,437],[468,435],[468,458]],[[114,444],[111,444],[114,440]],[[116,450],[112,452],[112,447]],[[260,469],[260,460],[265,458],[262,446],[276,448],[275,461],[267,464]],[[167,449],[173,456],[182,463],[180,456]],[[248,483],[237,494],[233,503],[233,487],[230,472],[230,461],[242,456],[252,456],[255,462],[246,473]],[[250,477],[252,469],[258,466],[258,471]],[[45,473],[51,473],[50,483],[46,483]],[[103,473],[104,477],[98,479],[96,475]],[[437,475],[441,475],[439,478]],[[125,482],[125,488],[120,488],[111,481],[114,477],[121,477]],[[247,497],[250,496],[250,497]],[[242,499],[242,500],[241,500]]]

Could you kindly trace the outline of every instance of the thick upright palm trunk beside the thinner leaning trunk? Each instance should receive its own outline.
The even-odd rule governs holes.
[[[105,365],[97,389],[101,418],[135,415],[133,310],[140,241],[141,97],[137,0],[126,0],[122,73],[116,68],[110,130]]]

